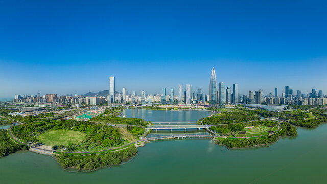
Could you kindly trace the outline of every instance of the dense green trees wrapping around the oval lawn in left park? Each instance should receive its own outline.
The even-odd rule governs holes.
[[[26,117],[24,124],[12,128],[13,134],[22,141],[37,142],[37,134],[48,130],[75,130],[87,135],[86,140],[81,145],[58,145],[58,147],[68,146],[69,149],[75,150],[75,147],[81,149],[92,146],[112,147],[121,144],[121,134],[113,126],[103,126],[87,121],[75,120],[46,120],[37,116]]]

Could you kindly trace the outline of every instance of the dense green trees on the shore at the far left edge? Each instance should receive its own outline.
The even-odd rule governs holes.
[[[0,157],[14,153],[18,150],[27,150],[28,146],[12,142],[6,133],[7,130],[0,130]]]

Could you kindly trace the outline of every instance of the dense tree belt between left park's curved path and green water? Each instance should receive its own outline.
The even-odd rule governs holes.
[[[130,146],[129,148],[117,151],[108,152],[102,155],[95,156],[73,156],[61,154],[56,156],[58,163],[63,168],[76,168],[78,170],[94,170],[97,168],[106,167],[108,165],[120,164],[123,160],[129,159],[133,154],[137,153],[137,148]]]

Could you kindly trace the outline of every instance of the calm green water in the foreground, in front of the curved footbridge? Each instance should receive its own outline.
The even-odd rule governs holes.
[[[67,172],[53,158],[20,151],[0,158],[1,183],[325,183],[327,124],[297,128],[269,147],[228,150],[211,140],[157,141],[129,163]]]

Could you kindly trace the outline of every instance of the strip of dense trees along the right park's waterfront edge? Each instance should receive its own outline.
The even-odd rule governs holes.
[[[283,122],[281,123],[281,126],[283,127],[281,131],[276,132],[269,136],[263,136],[263,137],[251,138],[251,139],[227,138],[218,141],[218,143],[223,144],[228,148],[242,148],[242,147],[271,144],[276,142],[279,139],[279,137],[297,135],[296,128],[290,125],[289,123]]]

